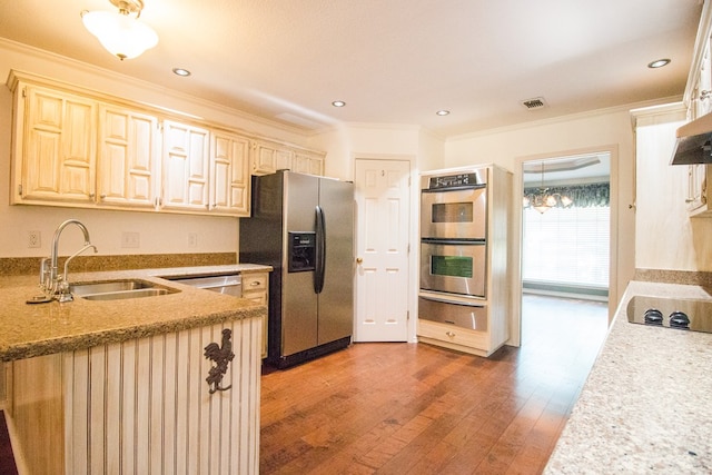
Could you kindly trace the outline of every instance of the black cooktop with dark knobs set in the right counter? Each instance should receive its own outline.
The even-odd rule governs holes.
[[[636,295],[626,313],[633,324],[712,333],[712,300]]]

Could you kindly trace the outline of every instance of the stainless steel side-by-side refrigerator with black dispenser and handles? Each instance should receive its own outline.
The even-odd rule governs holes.
[[[253,177],[240,263],[274,267],[267,363],[285,368],[350,344],[354,186],[280,170]]]

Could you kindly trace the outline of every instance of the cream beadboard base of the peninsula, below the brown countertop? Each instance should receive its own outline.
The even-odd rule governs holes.
[[[31,474],[257,474],[263,319],[13,362],[8,409]],[[209,393],[210,343],[235,358]],[[19,455],[18,455],[19,454]]]

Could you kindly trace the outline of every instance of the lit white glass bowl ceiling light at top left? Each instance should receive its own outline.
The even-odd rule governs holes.
[[[139,21],[142,0],[109,0],[119,11],[82,11],[87,30],[120,60],[140,56],[158,43],[158,34]]]

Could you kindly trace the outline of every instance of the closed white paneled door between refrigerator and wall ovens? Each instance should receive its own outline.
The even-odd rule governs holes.
[[[356,160],[354,342],[406,342],[409,162]]]

